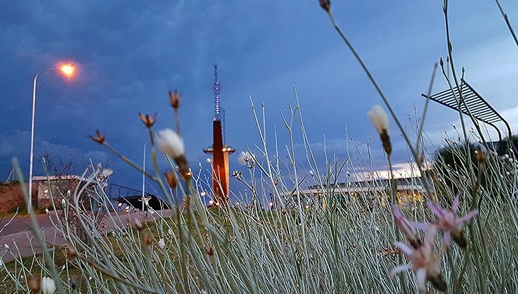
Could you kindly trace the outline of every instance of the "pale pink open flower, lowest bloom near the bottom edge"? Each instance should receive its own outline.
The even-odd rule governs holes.
[[[407,265],[398,265],[391,270],[391,278],[407,269],[413,269],[416,275],[417,288],[426,290],[426,281],[430,281],[437,290],[446,290],[446,282],[442,279],[440,273],[439,258],[433,251],[433,240],[436,229],[430,226],[426,232],[424,241],[416,248],[411,248],[402,242],[394,242],[394,245],[407,255],[411,263]]]

